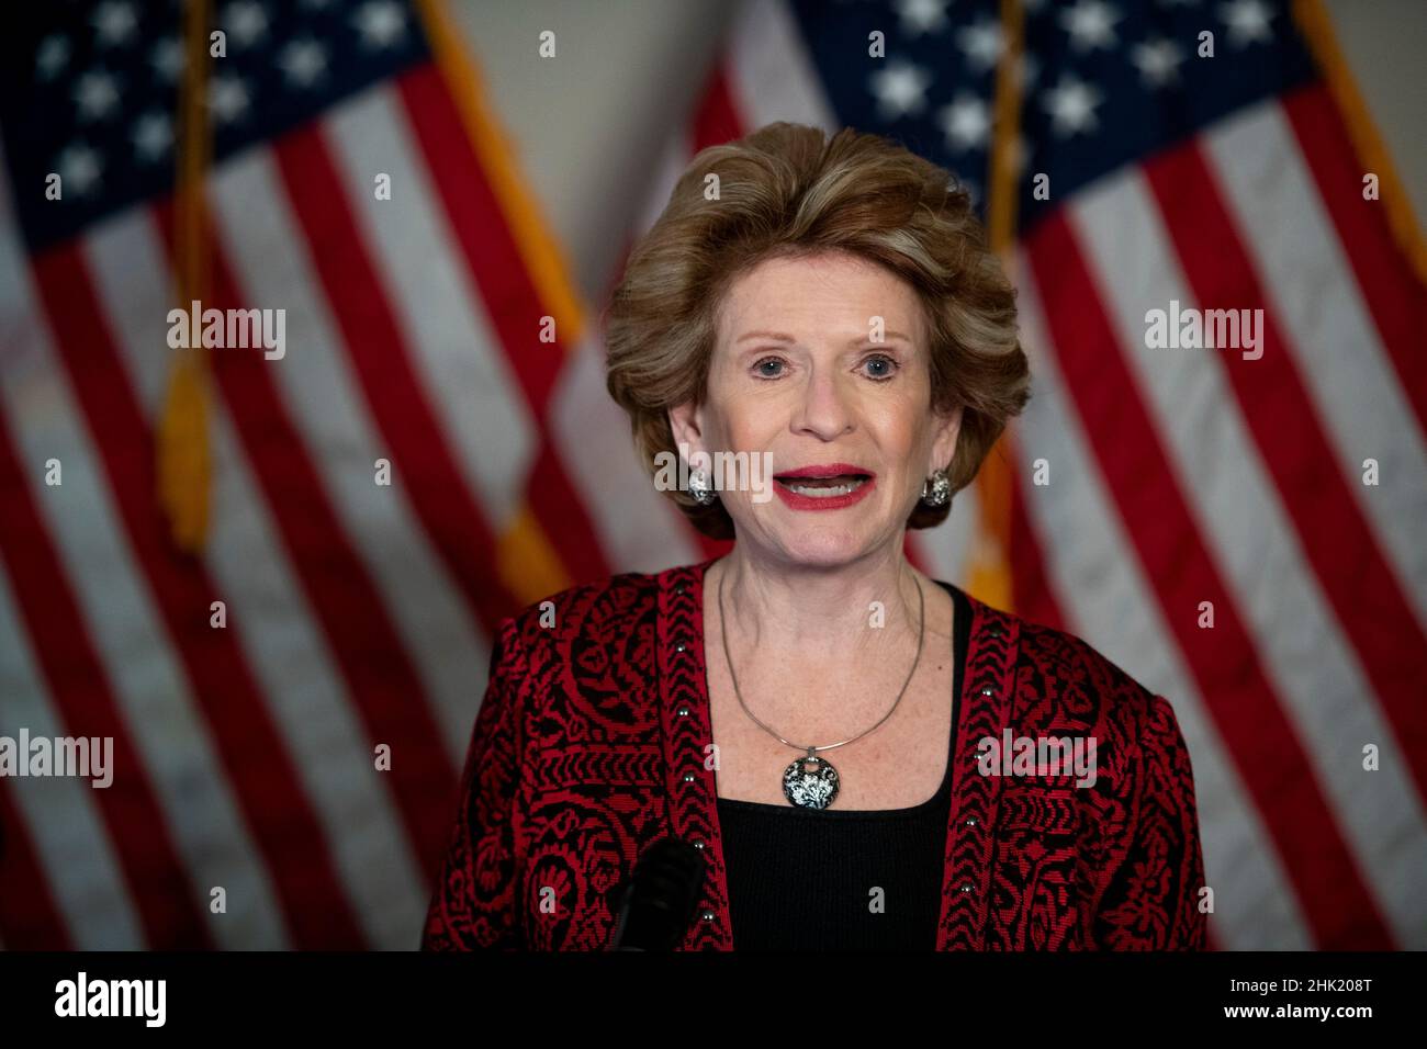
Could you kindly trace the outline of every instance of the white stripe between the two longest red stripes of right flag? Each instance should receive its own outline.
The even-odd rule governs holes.
[[[1364,881],[1396,936],[1410,941],[1427,918],[1427,908],[1418,902],[1421,893],[1411,889],[1411,872],[1427,869],[1427,852],[1400,845],[1427,843],[1427,822],[1401,749],[1371,702],[1363,668],[1331,618],[1331,607],[1276,498],[1271,475],[1256,454],[1251,424],[1244,420],[1257,411],[1276,425],[1291,428],[1300,415],[1293,411],[1274,415],[1273,405],[1236,410],[1224,375],[1226,368],[1232,371],[1236,365],[1223,361],[1223,355],[1237,357],[1237,351],[1152,348],[1144,337],[1147,308],[1170,301],[1193,308],[1202,301],[1194,294],[1199,288],[1192,287],[1177,264],[1176,247],[1180,257],[1187,257],[1206,251],[1207,245],[1216,273],[1234,274],[1237,268],[1233,245],[1209,217],[1212,208],[1189,193],[1179,203],[1196,208],[1197,220],[1183,228],[1176,220],[1166,231],[1146,177],[1139,168],[1127,168],[1076,197],[1070,206],[1072,225],[1097,287],[1104,290],[1103,303],[1124,360],[1147,408],[1160,421],[1159,432],[1183,481],[1197,528],[1217,554],[1216,567],[1230,589],[1234,611],[1251,631],[1286,714],[1319,759],[1317,782],[1337,825],[1364,861]],[[1170,233],[1192,243],[1172,240]],[[1239,301],[1243,294],[1214,291],[1214,305]],[[1264,327],[1271,330],[1271,317],[1264,318]],[[1253,373],[1270,355],[1281,355],[1271,334],[1261,360],[1240,360],[1240,364]],[[1249,374],[1240,380],[1257,382],[1259,377]],[[1226,462],[1234,468],[1226,470]],[[1266,587],[1266,579],[1273,579],[1273,587]],[[1284,608],[1294,609],[1293,615],[1284,615]],[[1364,741],[1380,742],[1380,772],[1364,772]],[[1371,811],[1374,819],[1356,818],[1364,811]]]

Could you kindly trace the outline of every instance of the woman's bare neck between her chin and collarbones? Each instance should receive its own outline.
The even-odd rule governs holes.
[[[915,637],[918,577],[900,544],[836,567],[789,564],[735,547],[709,567],[706,582],[716,602],[722,581],[725,629],[743,645],[835,658]],[[926,582],[920,585],[925,591]]]

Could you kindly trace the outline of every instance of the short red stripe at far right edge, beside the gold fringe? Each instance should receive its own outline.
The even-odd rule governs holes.
[[[1354,163],[1347,128],[1327,88],[1314,84],[1294,91],[1281,106],[1417,425],[1427,430],[1427,354],[1421,353],[1427,290],[1397,248],[1383,214],[1387,204],[1363,198],[1367,173]]]

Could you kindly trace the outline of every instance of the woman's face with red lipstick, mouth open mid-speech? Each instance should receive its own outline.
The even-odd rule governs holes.
[[[960,410],[932,415],[926,320],[889,270],[845,253],[769,258],[729,288],[718,317],[708,400],[669,412],[694,452],[748,452],[759,495],[721,490],[739,544],[799,564],[900,549],[922,484],[952,461]],[[802,480],[835,467],[860,480]],[[719,471],[715,471],[719,477]],[[821,471],[828,472],[828,471]]]

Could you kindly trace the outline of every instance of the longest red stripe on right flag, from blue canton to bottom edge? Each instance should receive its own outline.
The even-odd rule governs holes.
[[[1320,946],[1387,949],[1391,938],[1264,678],[1144,405],[1063,213],[1027,240],[1049,334],[1120,517],[1220,732],[1300,888]],[[1112,437],[1113,434],[1113,437]],[[1213,632],[1197,627],[1202,601]],[[1291,798],[1289,811],[1287,798]]]

